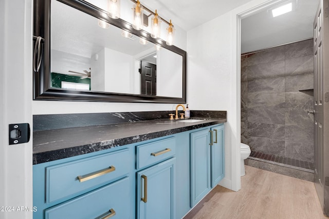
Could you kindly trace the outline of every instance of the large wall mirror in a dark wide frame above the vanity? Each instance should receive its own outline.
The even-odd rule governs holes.
[[[34,100],[186,103],[186,51],[82,0],[33,9]]]

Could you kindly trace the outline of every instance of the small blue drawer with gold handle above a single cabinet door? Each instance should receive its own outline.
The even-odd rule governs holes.
[[[176,153],[176,138],[171,137],[137,146],[136,169],[141,169],[165,160]]]

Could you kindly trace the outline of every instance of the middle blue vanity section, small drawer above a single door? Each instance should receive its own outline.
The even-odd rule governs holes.
[[[175,151],[176,137],[136,146],[137,218],[176,218]]]

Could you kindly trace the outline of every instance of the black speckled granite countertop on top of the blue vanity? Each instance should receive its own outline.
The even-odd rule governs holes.
[[[199,122],[154,119],[35,131],[33,132],[33,165],[224,122],[226,122],[226,118],[207,118]]]

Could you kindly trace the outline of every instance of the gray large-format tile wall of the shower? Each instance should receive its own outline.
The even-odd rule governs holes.
[[[314,161],[313,40],[241,57],[241,141],[252,151]]]

